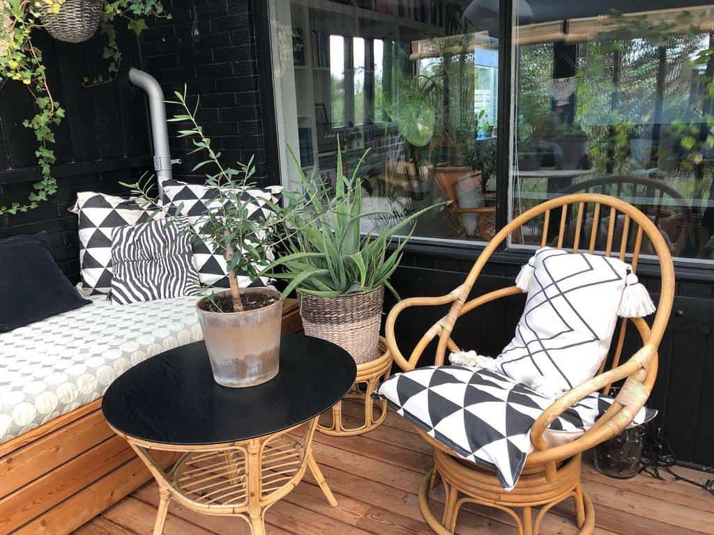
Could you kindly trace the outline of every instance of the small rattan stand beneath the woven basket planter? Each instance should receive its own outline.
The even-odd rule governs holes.
[[[382,399],[376,402],[372,399],[372,393],[376,392],[379,383],[389,377],[392,370],[392,355],[387,349],[387,342],[383,337],[379,337],[380,357],[370,362],[357,365],[357,377],[350,391],[343,399],[359,399],[364,402],[364,420],[359,427],[345,427],[342,421],[342,401],[338,401],[332,407],[332,421],[329,425],[318,422],[317,429],[324,434],[333,437],[353,437],[357,434],[370,432],[379,427],[387,417],[387,401]],[[360,386],[364,385],[364,389]],[[375,404],[381,409],[377,419],[374,419]]]

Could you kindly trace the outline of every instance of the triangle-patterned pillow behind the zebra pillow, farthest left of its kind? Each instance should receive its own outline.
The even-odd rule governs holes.
[[[69,209],[79,215],[79,270],[86,295],[111,291],[111,238],[114,229],[163,218],[159,210],[138,200],[94,191],[77,193]]]

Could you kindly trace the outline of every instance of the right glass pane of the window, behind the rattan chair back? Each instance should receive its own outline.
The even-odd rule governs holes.
[[[606,193],[643,210],[673,255],[714,259],[714,6],[692,3],[515,2],[513,216]],[[615,251],[632,250],[623,223]],[[586,214],[580,239],[604,248],[608,224]],[[559,228],[551,219],[545,243]],[[543,220],[516,234],[514,245],[540,245]]]

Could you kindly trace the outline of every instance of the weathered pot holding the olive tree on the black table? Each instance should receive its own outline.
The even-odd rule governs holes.
[[[280,362],[283,299],[272,288],[244,288],[243,294],[276,297],[267,307],[245,312],[203,310],[208,297],[196,303],[213,379],[223,387],[254,387],[273,379]],[[230,292],[216,293],[217,297]]]

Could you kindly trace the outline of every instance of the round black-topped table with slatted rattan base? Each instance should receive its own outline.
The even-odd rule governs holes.
[[[172,498],[195,511],[240,516],[253,535],[263,535],[266,509],[308,467],[336,506],[313,458],[312,438],[320,414],[340,401],[355,377],[348,352],[303,335],[283,335],[280,372],[256,387],[217,384],[203,342],[122,374],[104,394],[102,410],[159,483],[154,535],[164,531]],[[156,450],[180,457],[166,470]]]

